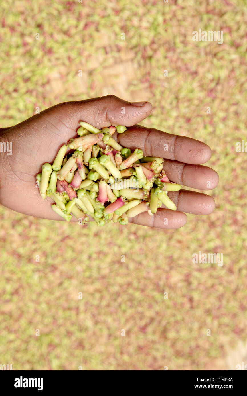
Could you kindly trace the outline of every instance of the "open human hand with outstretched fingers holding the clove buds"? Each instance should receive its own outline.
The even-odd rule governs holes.
[[[125,114],[122,114],[123,108]],[[27,215],[61,220],[52,210],[50,198],[43,200],[35,188],[35,176],[42,164],[54,161],[61,145],[76,136],[80,120],[99,129],[110,125],[131,127],[120,135],[113,135],[123,147],[132,151],[141,148],[146,156],[165,158],[163,169],[174,183],[202,190],[215,188],[218,174],[201,165],[211,158],[210,147],[188,137],[136,125],[151,113],[151,109],[149,102],[130,104],[108,95],[60,103],[3,130],[0,141],[12,142],[12,155],[0,153],[0,203]],[[168,150],[164,151],[164,145]],[[215,206],[211,196],[198,192],[180,190],[168,192],[168,196],[176,204],[176,211],[162,207],[153,216],[144,212],[130,221],[149,227],[179,228],[187,221],[183,212],[205,215]],[[164,225],[164,218],[167,218],[167,225]]]

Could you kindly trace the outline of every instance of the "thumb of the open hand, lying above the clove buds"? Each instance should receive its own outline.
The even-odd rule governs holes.
[[[144,120],[152,111],[149,102],[131,103],[115,95],[67,102],[62,107],[63,116],[69,115],[73,124],[75,122],[75,128],[79,121],[88,122],[99,129],[110,125],[132,126]]]

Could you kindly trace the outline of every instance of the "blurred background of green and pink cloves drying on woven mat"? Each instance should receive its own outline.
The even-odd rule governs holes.
[[[220,176],[208,192],[215,211],[188,215],[179,230],[79,227],[1,207],[1,364],[15,370],[247,364],[247,153],[236,152],[246,139],[244,3],[1,4],[1,127],[63,101],[110,93],[148,100],[153,112],[142,124],[204,141],[213,150],[207,165]],[[194,42],[199,29],[223,31],[223,44]],[[223,253],[223,266],[193,264],[199,251]]]

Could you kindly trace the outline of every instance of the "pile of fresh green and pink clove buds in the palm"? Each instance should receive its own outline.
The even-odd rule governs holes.
[[[122,147],[112,137],[116,129],[126,131],[121,125],[98,129],[80,122],[79,137],[63,145],[53,165],[44,164],[36,176],[40,195],[52,198],[52,209],[66,221],[74,215],[85,224],[89,215],[99,226],[125,225],[144,211],[154,215],[162,204],[176,210],[167,192],[182,187],[170,183],[164,159]]]

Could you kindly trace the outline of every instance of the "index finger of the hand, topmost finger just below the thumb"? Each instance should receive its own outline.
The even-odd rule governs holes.
[[[211,148],[199,140],[140,125],[129,127],[124,133],[118,134],[117,139],[123,147],[131,150],[141,148],[145,156],[167,158],[187,164],[204,164],[212,155]]]

